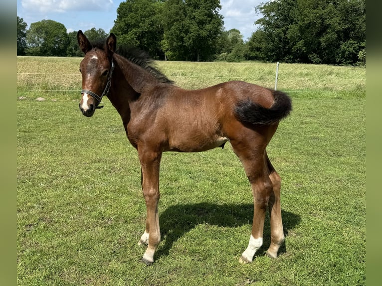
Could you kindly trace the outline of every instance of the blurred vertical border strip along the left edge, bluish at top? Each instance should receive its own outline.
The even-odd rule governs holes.
[[[16,1],[0,2],[0,285],[16,285]]]

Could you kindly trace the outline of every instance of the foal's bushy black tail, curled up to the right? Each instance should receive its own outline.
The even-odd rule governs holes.
[[[247,124],[272,124],[287,117],[292,110],[290,97],[281,91],[272,91],[274,102],[270,108],[265,108],[250,99],[240,101],[235,107],[235,115]]]

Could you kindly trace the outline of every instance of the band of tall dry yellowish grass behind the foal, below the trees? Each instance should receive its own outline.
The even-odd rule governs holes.
[[[81,58],[17,57],[17,96],[25,91],[58,99],[78,99],[81,90]],[[157,66],[176,85],[198,89],[230,80],[243,80],[274,88],[275,63],[197,63],[157,61]],[[284,64],[279,66],[277,89],[298,97],[365,97],[366,69],[327,65]],[[336,95],[337,96],[337,95]]]

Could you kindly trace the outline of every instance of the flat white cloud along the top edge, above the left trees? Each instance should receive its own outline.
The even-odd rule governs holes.
[[[113,0],[21,0],[21,6],[29,13],[97,11],[110,9]]]

